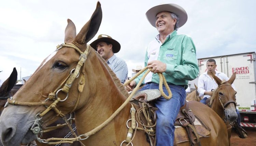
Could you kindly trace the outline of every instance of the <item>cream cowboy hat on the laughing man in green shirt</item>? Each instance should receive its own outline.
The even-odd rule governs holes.
[[[152,26],[156,27],[156,15],[163,11],[176,14],[180,18],[179,27],[183,26],[187,22],[187,13],[181,6],[172,3],[161,4],[150,8],[146,13],[147,20]]]

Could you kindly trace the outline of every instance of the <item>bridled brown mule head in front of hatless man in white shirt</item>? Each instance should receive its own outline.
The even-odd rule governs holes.
[[[224,108],[223,110],[226,112],[226,118],[230,122],[234,122],[237,119],[236,113],[236,91],[232,88],[231,84],[236,78],[236,73],[233,73],[228,81],[222,81],[217,76],[213,75],[214,80],[218,84],[218,88],[215,91],[215,99],[219,101],[220,108]],[[214,96],[214,95],[213,95]]]

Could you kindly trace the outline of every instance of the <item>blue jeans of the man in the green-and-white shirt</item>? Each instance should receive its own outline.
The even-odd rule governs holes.
[[[183,87],[169,85],[172,98],[165,99],[163,96],[154,101],[156,111],[156,145],[157,146],[173,146],[174,140],[174,122],[180,108],[184,105],[186,99],[186,91]],[[142,87],[141,90],[159,89],[159,84],[151,83]],[[140,90],[140,91],[141,91]],[[168,96],[168,92],[163,85],[163,92]]]

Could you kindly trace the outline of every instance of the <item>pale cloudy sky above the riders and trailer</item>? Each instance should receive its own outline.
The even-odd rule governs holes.
[[[144,66],[146,47],[158,34],[146,19],[151,7],[175,3],[188,20],[178,34],[190,36],[197,58],[256,51],[255,0],[100,0],[103,18],[99,34],[121,44],[116,56],[126,61],[128,76]],[[79,33],[96,8],[97,0],[8,0],[0,5],[0,80],[14,67],[18,79],[30,76],[58,44],[64,42],[67,19]],[[1,84],[1,83],[0,83]]]

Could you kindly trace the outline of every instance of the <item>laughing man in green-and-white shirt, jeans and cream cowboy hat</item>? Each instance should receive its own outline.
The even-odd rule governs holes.
[[[141,90],[158,89],[159,77],[163,73],[172,92],[172,98],[164,97],[154,101],[158,108],[156,124],[156,145],[172,146],[174,139],[174,121],[179,109],[184,105],[188,80],[193,80],[199,73],[196,48],[193,40],[186,35],[177,35],[177,29],[187,21],[186,11],[176,4],[162,4],[146,12],[150,24],[159,34],[148,44],[145,66],[152,68],[145,77]],[[138,84],[143,74],[126,86],[131,91]],[[168,95],[166,88],[163,91]]]

